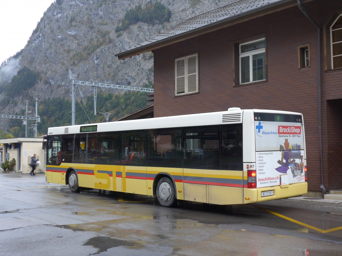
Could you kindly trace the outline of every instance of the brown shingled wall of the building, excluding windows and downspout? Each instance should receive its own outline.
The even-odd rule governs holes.
[[[323,28],[333,10],[342,8],[342,2],[313,1],[303,6]],[[267,81],[234,86],[234,41],[258,34],[266,35]],[[321,42],[324,185],[327,189],[329,185],[342,188],[342,182],[329,184],[325,103],[342,98],[342,71],[324,70],[323,34]],[[305,44],[310,44],[311,67],[298,69],[298,46]],[[199,93],[175,97],[174,60],[192,53],[199,56]],[[320,190],[317,56],[317,28],[297,6],[156,49],[154,116],[222,111],[229,107],[301,112],[305,123],[309,189]]]

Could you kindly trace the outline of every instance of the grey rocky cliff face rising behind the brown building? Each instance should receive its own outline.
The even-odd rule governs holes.
[[[70,98],[72,78],[143,86],[147,80],[153,81],[153,54],[145,53],[126,60],[118,60],[115,54],[187,18],[234,2],[158,1],[171,10],[170,22],[155,25],[139,22],[118,33],[115,28],[121,23],[126,11],[137,5],[145,6],[147,0],[59,0],[51,4],[29,38],[18,62],[19,69],[27,66],[39,71],[41,79],[28,95],[17,95],[13,104],[7,105],[1,112],[19,112],[28,97]],[[77,89],[78,97],[92,92],[93,89],[87,86]],[[4,97],[5,92],[0,95],[0,100]],[[3,118],[0,119],[0,128],[9,128]]]

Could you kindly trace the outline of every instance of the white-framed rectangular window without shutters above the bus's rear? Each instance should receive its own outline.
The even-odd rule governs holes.
[[[239,45],[240,84],[266,80],[265,38]]]

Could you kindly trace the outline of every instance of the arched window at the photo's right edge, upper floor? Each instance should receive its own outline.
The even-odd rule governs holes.
[[[342,68],[342,15],[330,26],[331,68]]]

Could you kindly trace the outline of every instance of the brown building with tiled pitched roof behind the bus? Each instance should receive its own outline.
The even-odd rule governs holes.
[[[118,53],[154,53],[154,117],[304,115],[309,190],[342,189],[342,1],[240,0]]]

